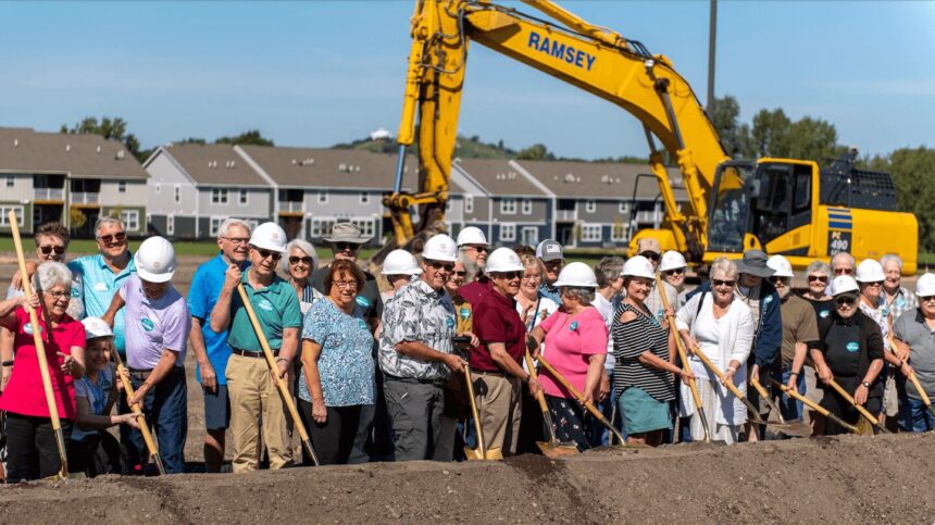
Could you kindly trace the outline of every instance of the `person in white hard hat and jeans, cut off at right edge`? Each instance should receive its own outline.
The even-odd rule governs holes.
[[[896,366],[906,377],[915,374],[928,399],[935,399],[935,275],[926,273],[915,282],[919,309],[903,313],[893,323],[896,337]],[[900,399],[899,426],[907,432],[935,430],[935,415],[926,410],[912,382],[906,382]]]

